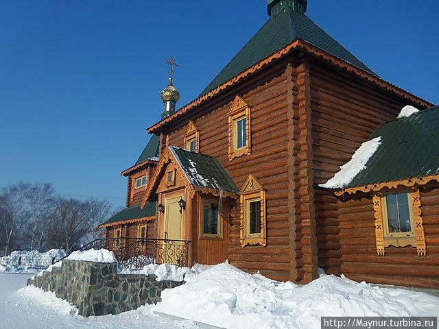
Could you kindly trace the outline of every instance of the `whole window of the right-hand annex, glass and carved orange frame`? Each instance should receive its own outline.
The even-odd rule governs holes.
[[[385,247],[416,247],[418,256],[425,256],[423,219],[420,217],[420,192],[410,188],[374,195],[375,239],[377,254],[385,255]]]

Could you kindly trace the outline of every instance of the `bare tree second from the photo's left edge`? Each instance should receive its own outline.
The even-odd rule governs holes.
[[[45,221],[49,210],[53,207],[54,188],[50,183],[32,184],[26,189],[24,195],[29,207],[29,225],[30,243],[29,249],[32,251],[36,243],[36,234],[43,231]],[[40,247],[41,239],[38,241]]]

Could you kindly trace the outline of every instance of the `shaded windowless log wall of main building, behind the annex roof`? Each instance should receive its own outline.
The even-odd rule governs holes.
[[[379,125],[396,119],[407,101],[321,60],[311,60],[309,67],[312,169],[317,185],[327,182],[351,160],[354,151]],[[337,198],[317,188],[315,200],[318,266],[327,273],[340,274]]]

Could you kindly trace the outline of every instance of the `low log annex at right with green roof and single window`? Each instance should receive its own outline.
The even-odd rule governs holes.
[[[335,190],[342,273],[356,281],[437,289],[439,107],[384,123],[366,143],[321,185],[342,185]],[[365,168],[343,182],[368,152]]]

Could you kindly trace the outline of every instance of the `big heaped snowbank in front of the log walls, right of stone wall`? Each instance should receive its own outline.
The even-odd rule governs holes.
[[[322,316],[439,315],[439,297],[324,273],[300,287],[222,263],[188,279],[163,291],[154,311],[229,329],[320,328]]]

